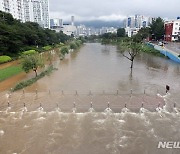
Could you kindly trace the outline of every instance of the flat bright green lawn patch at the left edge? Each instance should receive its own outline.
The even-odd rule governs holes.
[[[23,72],[22,67],[20,65],[18,66],[10,66],[4,69],[0,70],[0,82],[8,79],[14,75],[17,75],[19,73]]]

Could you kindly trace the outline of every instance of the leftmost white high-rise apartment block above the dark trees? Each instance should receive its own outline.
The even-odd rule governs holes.
[[[23,0],[0,0],[0,10],[24,21]]]

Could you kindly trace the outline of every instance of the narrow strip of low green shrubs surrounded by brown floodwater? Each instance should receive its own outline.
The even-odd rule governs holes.
[[[53,66],[49,66],[47,70],[41,72],[37,77],[25,80],[22,82],[19,82],[13,89],[11,89],[12,92],[23,89],[25,87],[28,87],[38,81],[39,79],[43,78],[46,75],[49,75],[55,68]]]

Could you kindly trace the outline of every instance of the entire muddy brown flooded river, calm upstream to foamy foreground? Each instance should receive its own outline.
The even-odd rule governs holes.
[[[0,153],[180,153],[158,149],[180,141],[179,64],[142,53],[131,72],[118,47],[99,43],[54,64],[25,94],[0,95]]]

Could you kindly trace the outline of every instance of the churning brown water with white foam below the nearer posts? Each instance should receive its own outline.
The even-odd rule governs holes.
[[[0,112],[2,154],[179,154],[158,149],[180,140],[180,114]]]

